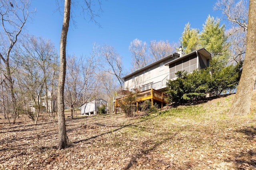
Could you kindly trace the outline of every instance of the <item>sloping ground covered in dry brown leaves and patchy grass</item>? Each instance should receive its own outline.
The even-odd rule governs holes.
[[[67,118],[74,147],[57,150],[58,125],[26,115],[0,119],[1,170],[250,170],[256,169],[256,94],[248,116],[226,113],[234,95],[159,113]],[[169,110],[170,109],[170,110]],[[24,120],[24,121],[22,121]]]

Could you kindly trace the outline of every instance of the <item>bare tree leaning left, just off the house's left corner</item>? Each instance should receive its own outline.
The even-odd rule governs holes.
[[[104,64],[105,70],[110,74],[116,76],[119,85],[122,89],[124,80],[123,76],[123,63],[122,57],[116,52],[114,47],[110,45],[103,45],[100,49],[100,55],[105,59],[108,64]]]

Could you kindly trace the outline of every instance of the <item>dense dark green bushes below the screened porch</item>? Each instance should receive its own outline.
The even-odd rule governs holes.
[[[211,67],[194,70],[189,74],[185,71],[176,72],[177,80],[169,80],[167,83],[169,102],[185,103],[200,100],[207,94],[219,96],[236,88],[242,72],[242,62],[229,66],[223,66],[217,61],[211,64]]]

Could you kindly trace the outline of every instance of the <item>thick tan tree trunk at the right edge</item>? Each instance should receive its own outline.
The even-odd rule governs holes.
[[[250,0],[246,55],[236,96],[229,115],[247,115],[250,113],[252,92],[256,80],[256,0]]]

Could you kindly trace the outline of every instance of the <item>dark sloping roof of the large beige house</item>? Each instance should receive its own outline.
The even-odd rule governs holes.
[[[180,60],[182,60],[182,59],[184,59],[184,58],[186,58],[186,57],[188,57],[188,56],[190,56],[190,55],[193,55],[193,54],[196,53],[196,52],[201,53],[202,55],[206,56],[208,59],[212,59],[212,58],[211,58],[211,54],[210,54],[204,47],[202,47],[202,48],[197,49],[197,50],[194,50],[194,51],[192,51],[192,52],[190,52],[190,53],[188,53],[188,54],[185,54],[185,55],[183,55],[182,57],[178,57],[177,59],[174,59],[174,60],[172,60],[172,61],[166,63],[165,65],[169,65],[169,64],[175,63],[175,62],[177,62],[177,61],[180,61]],[[162,58],[162,59],[159,59],[158,61],[155,61],[154,63],[151,63],[151,64],[149,64],[149,65],[147,65],[147,66],[145,66],[145,67],[143,67],[143,68],[141,68],[141,69],[139,69],[139,70],[136,70],[136,71],[134,71],[134,72],[132,72],[132,73],[130,73],[130,74],[124,76],[123,79],[128,78],[128,77],[130,77],[130,76],[133,76],[133,75],[135,75],[135,74],[137,74],[138,72],[141,72],[141,71],[143,71],[143,70],[147,70],[148,68],[152,67],[153,65],[155,65],[155,64],[160,64],[160,63],[162,63],[163,61],[165,61],[165,60],[167,60],[167,59],[170,59],[170,57],[173,57],[173,56],[179,56],[179,54],[178,54],[178,53],[173,53],[173,54],[171,54],[171,55],[169,55],[169,56],[167,56],[167,57],[164,57],[164,58]]]

